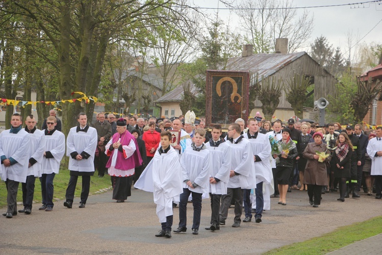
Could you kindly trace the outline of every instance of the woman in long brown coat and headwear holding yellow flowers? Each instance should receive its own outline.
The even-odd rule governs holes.
[[[309,203],[313,207],[321,204],[322,186],[328,186],[328,178],[326,176],[326,163],[330,162],[332,156],[323,159],[317,155],[317,152],[326,153],[326,144],[322,142],[323,135],[319,132],[313,134],[314,142],[308,143],[303,152],[307,164],[304,172],[304,183],[308,185]],[[314,200],[313,200],[314,198]]]

